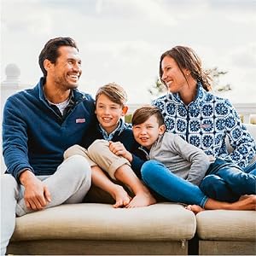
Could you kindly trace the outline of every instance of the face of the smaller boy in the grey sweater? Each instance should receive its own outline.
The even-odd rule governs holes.
[[[134,125],[132,131],[137,143],[150,149],[158,137],[166,131],[166,126],[159,125],[156,117],[153,115],[143,124]]]

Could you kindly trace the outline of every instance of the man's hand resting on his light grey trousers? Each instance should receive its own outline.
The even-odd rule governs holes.
[[[20,174],[20,183],[25,187],[24,200],[27,208],[39,211],[51,201],[48,188],[31,171],[26,170]]]

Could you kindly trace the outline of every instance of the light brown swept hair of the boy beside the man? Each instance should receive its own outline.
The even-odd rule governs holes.
[[[108,96],[110,101],[124,107],[127,102],[127,94],[119,84],[109,83],[99,88],[96,92],[96,102],[102,94]]]

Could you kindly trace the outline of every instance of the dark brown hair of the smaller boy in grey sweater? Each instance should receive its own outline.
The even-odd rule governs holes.
[[[155,106],[143,106],[142,108],[137,108],[132,115],[131,124],[132,126],[141,125],[153,115],[156,117],[159,125],[164,125],[165,122],[163,116],[160,113],[159,108]]]

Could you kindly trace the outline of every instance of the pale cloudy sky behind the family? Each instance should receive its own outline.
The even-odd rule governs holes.
[[[189,46],[205,68],[227,71],[221,96],[256,102],[256,0],[1,0],[1,81],[5,67],[20,67],[20,84],[42,76],[38,55],[55,37],[79,45],[79,90],[95,96],[110,82],[128,103],[149,103],[160,55]]]

